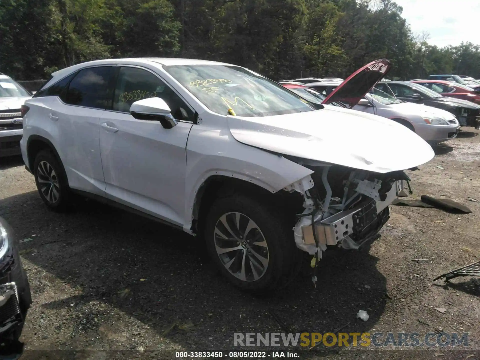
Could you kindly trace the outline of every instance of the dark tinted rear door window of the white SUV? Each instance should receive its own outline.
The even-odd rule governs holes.
[[[87,108],[106,108],[107,88],[111,66],[84,69],[68,86],[65,102]]]

